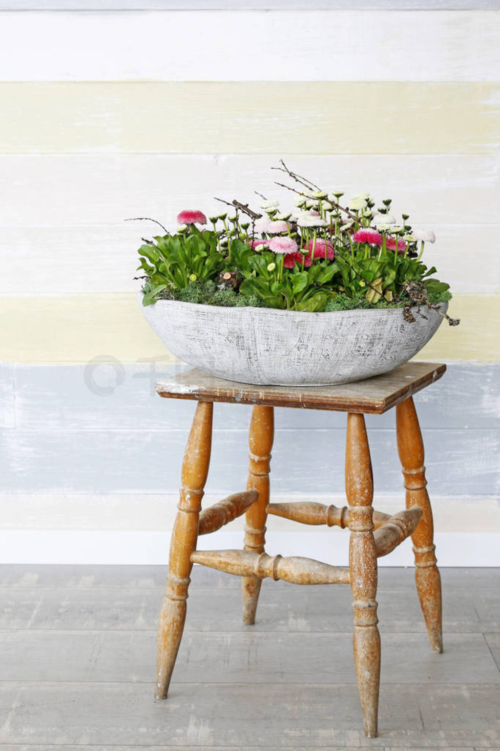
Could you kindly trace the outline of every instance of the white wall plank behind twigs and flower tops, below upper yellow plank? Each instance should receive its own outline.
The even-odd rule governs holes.
[[[392,197],[415,227],[499,222],[500,157],[493,155],[286,155],[298,173],[346,197]],[[256,155],[2,155],[0,225],[118,225],[151,216],[175,228],[187,207],[220,212],[214,196],[256,204],[254,191],[292,206],[294,194],[274,184],[274,156]],[[281,182],[281,181],[280,181]],[[379,204],[376,204],[379,205]],[[130,246],[156,232],[130,222]],[[436,246],[434,246],[436,248]],[[33,249],[33,253],[36,249]],[[437,255],[432,251],[433,256]],[[439,256],[438,256],[439,258]],[[95,263],[89,254],[88,261]]]

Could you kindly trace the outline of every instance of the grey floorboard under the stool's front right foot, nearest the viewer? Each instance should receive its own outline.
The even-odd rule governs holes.
[[[354,685],[4,683],[3,743],[393,747],[499,745],[500,685],[382,686],[377,739],[362,730]],[[478,707],[481,707],[478,716]],[[8,710],[7,710],[8,711]]]

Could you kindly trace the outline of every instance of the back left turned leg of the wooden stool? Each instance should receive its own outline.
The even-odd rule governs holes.
[[[274,439],[274,409],[256,405],[250,420],[250,467],[247,490],[258,490],[259,498],[250,506],[245,520],[244,549],[263,553],[265,543],[266,508],[269,502],[269,466]],[[243,622],[255,623],[262,579],[256,576],[241,578],[243,595]]]

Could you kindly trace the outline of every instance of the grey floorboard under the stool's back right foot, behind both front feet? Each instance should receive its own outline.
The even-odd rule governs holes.
[[[155,641],[153,632],[0,631],[1,680],[151,683]],[[421,635],[382,635],[382,683],[500,683],[482,634],[445,643],[437,656]],[[356,683],[352,633],[188,632],[174,680]]]

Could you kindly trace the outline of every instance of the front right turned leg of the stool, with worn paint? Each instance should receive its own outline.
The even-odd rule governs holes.
[[[354,659],[364,732],[377,734],[380,635],[377,623],[377,558],[373,538],[373,475],[363,415],[347,416],[346,495],[349,502],[349,570],[354,602]]]

